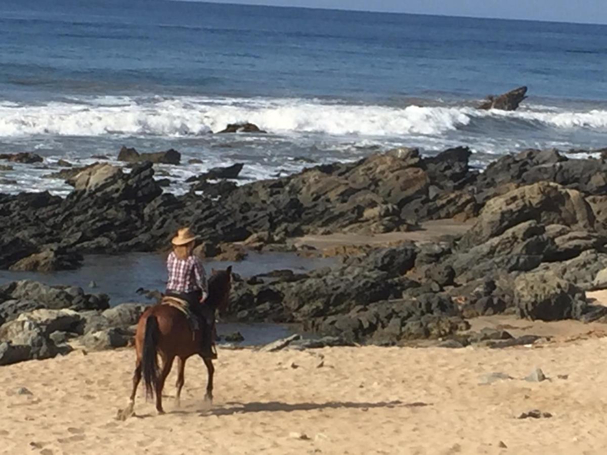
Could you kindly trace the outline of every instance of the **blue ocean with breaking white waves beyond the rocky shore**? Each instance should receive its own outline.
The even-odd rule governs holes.
[[[474,106],[529,87],[516,112]],[[214,135],[250,121],[267,135]],[[243,181],[379,150],[607,146],[607,26],[160,0],[0,1],[0,192],[70,190],[59,159],[174,148],[171,187]],[[202,164],[188,164],[197,158]]]

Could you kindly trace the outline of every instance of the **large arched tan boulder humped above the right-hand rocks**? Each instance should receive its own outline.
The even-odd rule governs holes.
[[[489,200],[462,238],[461,248],[472,248],[529,220],[585,231],[594,231],[595,222],[591,207],[577,190],[555,183],[535,183]]]

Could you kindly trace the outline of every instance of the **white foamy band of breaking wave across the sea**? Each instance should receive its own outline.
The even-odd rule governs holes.
[[[483,118],[511,118],[572,129],[607,129],[607,111],[554,109],[483,112],[470,107],[393,107],[306,99],[129,98],[103,96],[81,103],[0,104],[0,136],[197,136],[249,121],[278,134],[442,135]]]

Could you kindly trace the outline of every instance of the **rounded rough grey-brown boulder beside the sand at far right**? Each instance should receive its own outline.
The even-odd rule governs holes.
[[[531,272],[515,278],[515,304],[521,317],[555,321],[580,318],[586,295],[551,272]]]

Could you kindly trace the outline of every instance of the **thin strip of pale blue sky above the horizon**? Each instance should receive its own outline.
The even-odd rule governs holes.
[[[607,24],[607,0],[213,0],[213,2]]]

